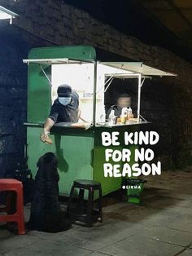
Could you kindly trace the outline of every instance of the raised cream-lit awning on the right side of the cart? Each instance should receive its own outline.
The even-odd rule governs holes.
[[[143,76],[177,76],[176,73],[170,73],[157,68],[152,68],[146,64],[143,64],[142,62],[100,62],[100,64],[113,68],[120,68],[121,70],[126,70],[133,73],[140,73]]]

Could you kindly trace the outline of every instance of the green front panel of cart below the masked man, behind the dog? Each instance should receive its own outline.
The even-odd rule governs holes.
[[[28,167],[37,173],[37,160],[46,152],[54,152],[59,160],[59,193],[68,196],[75,179],[93,179],[92,149],[94,138],[91,132],[68,129],[53,129],[50,138],[53,144],[39,139],[41,127],[28,126]]]

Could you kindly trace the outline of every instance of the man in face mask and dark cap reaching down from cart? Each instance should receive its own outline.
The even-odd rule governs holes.
[[[46,119],[44,131],[41,134],[41,141],[45,143],[52,143],[49,138],[50,129],[56,122],[66,121],[70,123],[77,123],[80,116],[79,111],[79,95],[72,87],[64,84],[58,87],[58,98],[55,99],[51,107],[50,115]]]

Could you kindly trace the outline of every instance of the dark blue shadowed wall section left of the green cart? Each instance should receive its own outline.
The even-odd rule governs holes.
[[[24,159],[27,65],[23,59],[48,42],[7,22],[0,23],[0,178]]]

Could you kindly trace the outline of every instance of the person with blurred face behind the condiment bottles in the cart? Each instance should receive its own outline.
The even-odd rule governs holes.
[[[131,96],[128,94],[120,94],[117,97],[116,105],[112,105],[107,111],[106,118],[109,118],[111,110],[115,110],[115,116],[120,117],[122,108],[130,108],[131,107]]]

